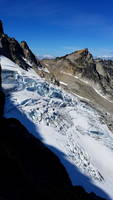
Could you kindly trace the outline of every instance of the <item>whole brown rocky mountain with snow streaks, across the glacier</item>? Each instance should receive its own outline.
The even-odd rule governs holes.
[[[42,71],[44,67],[49,71],[43,72],[47,80],[54,77],[70,92],[91,101],[95,93],[113,102],[113,61],[94,59],[88,49],[82,49],[63,57],[42,60],[41,64]]]

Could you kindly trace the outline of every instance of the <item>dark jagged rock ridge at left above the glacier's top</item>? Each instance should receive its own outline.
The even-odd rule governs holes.
[[[31,66],[38,68],[39,60],[29,49],[26,42],[18,43],[14,38],[4,34],[2,22],[0,21],[0,55],[4,55],[27,70]]]

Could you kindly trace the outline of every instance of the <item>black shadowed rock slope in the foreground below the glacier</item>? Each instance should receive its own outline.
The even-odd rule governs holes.
[[[0,119],[0,196],[101,200],[74,187],[59,159],[16,119]]]

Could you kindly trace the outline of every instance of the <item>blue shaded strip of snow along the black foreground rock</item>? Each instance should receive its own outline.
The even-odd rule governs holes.
[[[18,119],[26,127],[26,129],[31,134],[33,134],[33,136],[35,136],[35,138],[39,139],[42,143],[44,143],[43,138],[42,138],[37,126],[32,121],[30,121],[30,119],[25,115],[25,113],[21,112],[18,109],[18,107],[16,107],[13,104],[13,102],[10,99],[10,96],[6,98],[4,113],[5,113],[4,117],[6,117],[6,118]],[[68,172],[68,175],[69,175],[71,181],[75,185],[81,185],[85,188],[85,190],[87,192],[94,192],[98,196],[101,196],[107,200],[111,200],[109,195],[107,195],[101,188],[94,185],[91,182],[91,179],[89,177],[85,176],[83,173],[80,172],[80,170],[75,165],[70,163],[66,159],[66,155],[63,152],[61,152],[59,149],[56,149],[53,146],[50,146],[47,144],[44,144],[44,145],[46,145],[46,147],[48,147],[52,152],[54,152],[58,156],[61,163],[65,166],[66,171]]]

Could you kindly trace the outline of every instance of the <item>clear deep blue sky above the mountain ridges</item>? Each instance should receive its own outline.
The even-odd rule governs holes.
[[[35,54],[113,56],[113,0],[0,0],[5,32]]]

